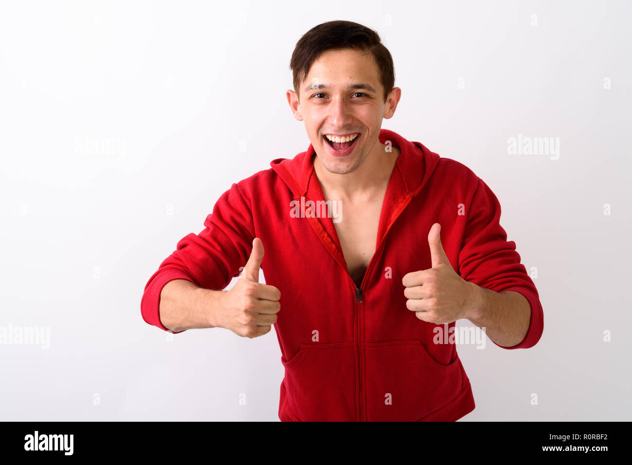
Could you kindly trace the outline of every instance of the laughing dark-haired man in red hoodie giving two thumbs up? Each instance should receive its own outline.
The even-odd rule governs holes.
[[[401,89],[373,30],[318,25],[291,69],[310,146],[219,198],[150,278],[143,318],[250,338],[274,324],[282,421],[458,420],[470,380],[437,329],[467,318],[507,349],[543,329],[500,204],[463,164],[380,129]]]

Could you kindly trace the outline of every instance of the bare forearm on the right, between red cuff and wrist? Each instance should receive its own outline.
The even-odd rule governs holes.
[[[531,322],[531,306],[520,293],[490,289],[470,283],[473,289],[473,306],[466,318],[502,347],[513,347],[525,339]]]

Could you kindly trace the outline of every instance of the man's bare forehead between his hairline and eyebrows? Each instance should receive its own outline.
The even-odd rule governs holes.
[[[354,49],[327,50],[312,63],[305,78],[307,84],[370,82],[377,85],[380,76],[373,56]]]

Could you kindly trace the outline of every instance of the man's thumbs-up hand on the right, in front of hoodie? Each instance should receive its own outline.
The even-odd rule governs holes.
[[[404,275],[406,308],[420,320],[438,325],[467,318],[473,311],[476,286],[454,271],[441,244],[441,224],[435,223],[428,233],[432,268]]]

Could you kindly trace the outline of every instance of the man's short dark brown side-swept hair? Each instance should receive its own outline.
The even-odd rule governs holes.
[[[395,67],[391,52],[380,40],[375,30],[352,21],[327,21],[308,30],[298,42],[289,61],[292,70],[294,90],[305,80],[312,63],[327,50],[355,49],[373,56],[380,71],[380,81],[384,87],[384,101],[395,85]]]

